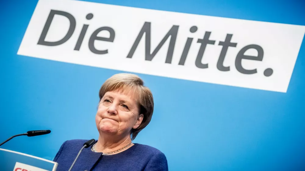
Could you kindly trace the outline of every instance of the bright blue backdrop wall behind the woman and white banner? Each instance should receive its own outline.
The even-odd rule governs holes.
[[[2,148],[52,160],[64,141],[98,137],[98,91],[120,71],[17,55],[37,2],[0,2],[0,141],[51,129]],[[304,1],[91,2],[305,25]],[[139,75],[155,112],[134,142],[164,152],[170,170],[305,170],[305,40],[287,93]]]

